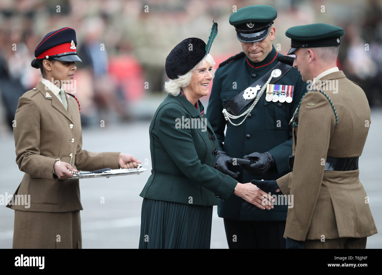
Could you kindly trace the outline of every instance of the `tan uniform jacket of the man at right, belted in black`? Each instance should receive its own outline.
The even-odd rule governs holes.
[[[317,85],[317,91],[309,91],[301,101],[298,127],[293,128],[293,171],[277,179],[282,193],[294,196],[284,238],[304,241],[323,236],[371,236],[377,228],[359,182],[359,170],[325,171],[327,157],[361,156],[369,131],[369,104],[364,91],[342,71],[320,80],[325,80],[324,84]],[[330,89],[333,83],[337,85]],[[335,88],[337,93],[333,93]],[[337,110],[337,126],[333,108],[320,89]]]

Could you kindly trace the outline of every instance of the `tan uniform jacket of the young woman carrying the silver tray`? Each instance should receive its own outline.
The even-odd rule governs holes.
[[[15,205],[16,202],[10,205],[11,201],[7,207],[35,212],[82,210],[78,179],[59,180],[53,175],[57,159],[70,163],[73,156],[71,165],[84,171],[119,168],[119,152],[93,153],[82,149],[78,103],[68,94],[66,98],[68,111],[41,82],[19,98],[13,134],[16,163],[25,174],[15,195],[30,195],[30,207]]]

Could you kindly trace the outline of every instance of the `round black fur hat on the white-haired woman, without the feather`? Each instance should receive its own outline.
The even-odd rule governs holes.
[[[206,43],[202,39],[186,38],[167,55],[165,70],[168,78],[176,79],[189,72],[206,54]]]

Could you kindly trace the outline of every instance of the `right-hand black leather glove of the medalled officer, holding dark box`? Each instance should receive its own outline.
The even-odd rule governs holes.
[[[250,175],[261,175],[265,171],[269,170],[275,164],[273,156],[268,153],[252,153],[243,157],[249,159],[251,164],[242,165],[241,167],[247,171]]]

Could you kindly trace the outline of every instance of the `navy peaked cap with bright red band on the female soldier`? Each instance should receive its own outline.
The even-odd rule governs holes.
[[[76,31],[72,28],[65,27],[45,35],[34,50],[34,56],[37,59],[53,58],[66,62],[82,62],[77,55],[76,46]]]

